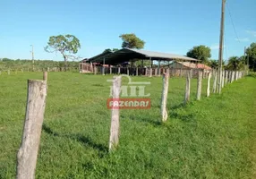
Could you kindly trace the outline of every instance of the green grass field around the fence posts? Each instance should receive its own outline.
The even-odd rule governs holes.
[[[24,122],[27,79],[41,72],[0,76],[0,178],[14,178]],[[160,123],[162,81],[150,81],[148,110],[122,110],[119,148],[108,153],[111,76],[48,73],[47,107],[37,178],[253,178],[256,78],[228,84],[183,106],[185,80],[169,81],[168,119]],[[126,81],[126,80],[125,80]],[[125,84],[123,81],[123,84]]]

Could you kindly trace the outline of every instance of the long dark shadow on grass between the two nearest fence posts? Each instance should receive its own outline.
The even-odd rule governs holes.
[[[42,129],[43,129],[44,132],[47,132],[50,135],[53,135],[53,136],[56,136],[56,137],[69,138],[69,139],[72,139],[72,140],[75,140],[75,141],[79,141],[83,145],[87,145],[87,146],[90,146],[93,149],[98,149],[101,152],[107,153],[107,147],[106,146],[104,146],[102,144],[95,143],[94,141],[91,140],[90,137],[83,136],[80,133],[60,134],[60,133],[54,132],[46,124],[43,124],[43,128]]]

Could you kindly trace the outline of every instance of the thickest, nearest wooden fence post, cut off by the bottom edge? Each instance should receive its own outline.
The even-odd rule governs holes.
[[[26,117],[17,153],[17,179],[33,179],[47,97],[47,81],[28,81]]]

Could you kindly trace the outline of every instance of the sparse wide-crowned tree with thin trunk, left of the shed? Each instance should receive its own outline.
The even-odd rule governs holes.
[[[76,54],[78,49],[81,48],[79,39],[70,34],[51,36],[47,44],[45,50],[48,53],[59,52],[63,55],[65,70],[68,58],[75,59],[76,57],[73,54]]]

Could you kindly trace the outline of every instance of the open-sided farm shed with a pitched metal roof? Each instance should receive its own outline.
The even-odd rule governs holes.
[[[139,60],[141,61],[141,65],[134,65],[134,63]],[[150,62],[148,66],[144,65],[145,60]],[[153,68],[153,66],[157,66],[153,71],[158,71],[156,73],[160,74],[164,72],[164,70],[160,69],[166,68],[163,65],[161,65],[161,63],[167,63],[168,67],[171,67],[171,65],[177,64],[177,62],[184,63],[183,66],[185,67],[185,64],[192,64],[192,66],[195,66],[194,64],[199,63],[200,60],[187,57],[184,55],[175,55],[131,48],[122,48],[115,52],[107,51],[105,53],[95,55],[91,58],[84,59],[80,63],[80,71],[82,73],[136,73],[137,75],[146,75],[148,68]],[[173,68],[180,67],[173,66]],[[97,72],[95,72],[96,70]]]

